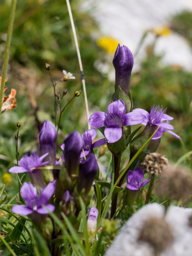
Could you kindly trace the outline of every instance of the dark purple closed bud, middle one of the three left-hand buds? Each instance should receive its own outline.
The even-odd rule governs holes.
[[[79,132],[71,132],[64,141],[65,167],[69,175],[75,174],[79,166],[80,153],[83,148],[83,141]]]

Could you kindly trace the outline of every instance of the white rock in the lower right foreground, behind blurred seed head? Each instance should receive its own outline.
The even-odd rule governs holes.
[[[171,206],[166,213],[166,222],[173,230],[174,241],[170,248],[160,256],[191,256],[192,228],[188,225],[191,208]],[[152,203],[142,207],[127,221],[109,247],[105,256],[154,256],[153,247],[146,242],[139,242],[139,230],[143,222],[150,217],[163,217],[164,206]]]

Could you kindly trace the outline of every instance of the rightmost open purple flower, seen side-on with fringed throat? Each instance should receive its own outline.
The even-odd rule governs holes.
[[[171,133],[174,137],[181,139],[176,133],[170,131],[174,130],[174,127],[170,125],[170,121],[173,120],[173,117],[165,114],[166,109],[163,110],[162,107],[153,106],[150,113],[141,108],[133,109],[132,112],[144,115],[145,119],[141,124],[147,125],[147,123],[149,123],[150,126],[160,126],[152,139],[160,138],[163,132]],[[166,123],[164,121],[166,121]]]

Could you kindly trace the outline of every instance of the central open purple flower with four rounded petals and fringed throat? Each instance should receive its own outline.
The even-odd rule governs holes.
[[[122,127],[126,125],[141,124],[146,117],[142,113],[127,113],[125,103],[117,100],[108,106],[108,112],[97,111],[89,118],[92,127],[104,127],[104,136],[108,143],[119,141],[122,136]]]

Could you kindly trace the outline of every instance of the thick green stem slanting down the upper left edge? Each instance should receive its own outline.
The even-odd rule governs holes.
[[[1,89],[0,89],[0,118],[1,118],[1,109],[2,109],[2,104],[3,104],[3,91],[4,91],[4,85],[5,85],[5,78],[6,78],[6,73],[7,73],[8,61],[9,61],[9,50],[10,50],[10,43],[11,43],[11,35],[12,35],[12,32],[13,32],[13,24],[14,24],[14,18],[15,18],[15,8],[16,8],[16,0],[12,0],[10,15],[9,15],[9,26],[8,26],[8,32],[7,32],[7,42],[6,42],[5,54],[4,54]]]

